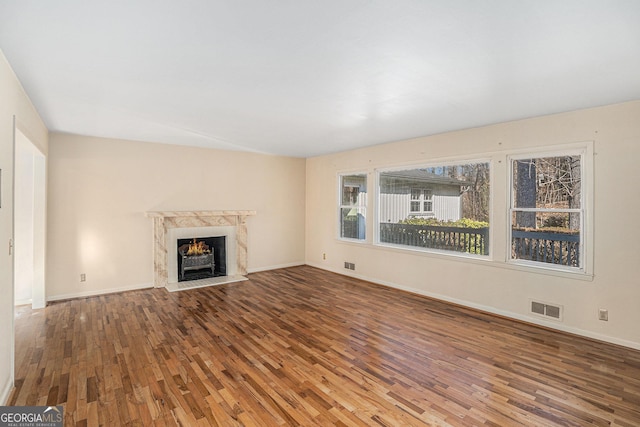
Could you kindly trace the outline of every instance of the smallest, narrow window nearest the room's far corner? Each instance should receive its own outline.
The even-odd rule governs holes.
[[[367,175],[340,176],[340,237],[364,240]]]

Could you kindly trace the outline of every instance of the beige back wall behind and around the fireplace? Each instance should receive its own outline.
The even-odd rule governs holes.
[[[48,196],[49,300],[151,286],[146,211],[255,210],[249,271],[304,263],[304,159],[52,134]]]

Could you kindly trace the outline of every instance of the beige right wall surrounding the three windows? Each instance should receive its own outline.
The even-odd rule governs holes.
[[[593,141],[595,208],[592,280],[515,269],[505,262],[506,152]],[[489,261],[340,241],[337,175],[367,172],[367,235],[373,234],[376,168],[445,158],[488,158],[493,167],[493,241]],[[539,117],[418,138],[307,160],[307,263],[501,315],[640,348],[640,102]],[[323,259],[326,253],[326,260]],[[562,322],[529,314],[529,299],[560,304]],[[609,321],[599,321],[599,308]]]

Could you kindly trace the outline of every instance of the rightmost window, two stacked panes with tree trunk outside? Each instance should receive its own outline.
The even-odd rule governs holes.
[[[511,260],[584,269],[584,155],[511,158]]]

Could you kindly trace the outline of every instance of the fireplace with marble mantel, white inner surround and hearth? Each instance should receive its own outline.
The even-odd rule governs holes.
[[[155,211],[146,212],[153,219],[154,286],[170,292],[189,287],[208,286],[247,280],[247,217],[255,211]],[[214,247],[214,277],[178,282],[178,239],[193,240],[223,237],[222,250]],[[214,245],[215,246],[215,245]],[[218,254],[216,254],[218,253]],[[220,257],[220,258],[219,258]],[[203,261],[204,263],[204,261]],[[216,267],[219,266],[219,267]],[[215,269],[224,265],[226,276],[216,276]],[[206,270],[198,268],[195,270]],[[194,270],[194,271],[195,271]],[[192,270],[186,270],[190,272]],[[209,269],[209,272],[211,270]],[[186,276],[186,274],[185,274]]]

